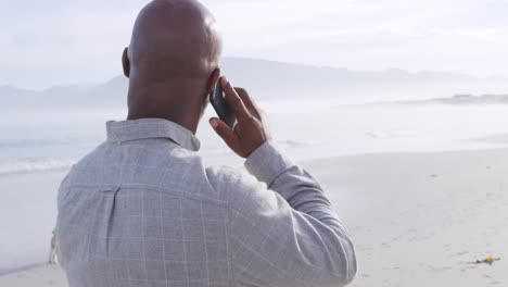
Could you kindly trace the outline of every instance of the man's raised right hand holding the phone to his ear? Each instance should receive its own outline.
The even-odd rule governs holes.
[[[242,88],[233,88],[225,77],[221,77],[226,101],[237,116],[237,125],[231,129],[217,117],[209,120],[215,132],[226,144],[242,158],[249,158],[257,148],[270,140],[266,121],[262,111]]]

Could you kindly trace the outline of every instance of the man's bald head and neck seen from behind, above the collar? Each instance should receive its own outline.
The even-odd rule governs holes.
[[[162,117],[195,130],[219,77],[221,39],[196,0],[154,0],[136,20],[124,51],[129,120]]]

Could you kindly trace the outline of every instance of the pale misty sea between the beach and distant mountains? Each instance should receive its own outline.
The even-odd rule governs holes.
[[[503,147],[508,105],[264,101],[274,141],[296,160],[379,152],[430,152]],[[12,111],[0,121],[0,176],[71,167],[105,140],[105,123],[126,109]],[[239,164],[209,127],[211,108],[196,137],[209,164]],[[506,139],[506,140],[505,140]]]

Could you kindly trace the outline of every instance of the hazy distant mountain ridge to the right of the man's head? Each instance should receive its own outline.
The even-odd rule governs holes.
[[[226,59],[223,70],[233,84],[258,98],[333,97],[344,100],[435,97],[471,92],[483,82],[469,75],[402,70],[359,72],[263,60]],[[467,87],[466,87],[467,86]],[[508,87],[508,83],[506,85]]]

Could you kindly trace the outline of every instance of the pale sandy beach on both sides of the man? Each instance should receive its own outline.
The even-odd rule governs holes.
[[[356,242],[360,269],[352,286],[508,283],[508,150],[366,154],[301,164],[321,182]],[[9,192],[8,186],[17,185],[15,191],[26,192],[26,198],[53,200],[62,174],[0,178],[0,187]],[[52,203],[38,209],[39,200],[30,202],[27,208],[36,209],[37,215],[30,212],[35,216],[49,220],[55,214],[46,210]],[[2,200],[0,205],[10,204]],[[18,224],[29,221],[27,216]],[[2,227],[8,224],[10,219],[0,220]],[[42,253],[35,254],[39,260],[34,259],[34,264],[47,260]],[[472,264],[491,255],[501,261]],[[0,286],[66,286],[66,282],[53,266],[2,265]]]

